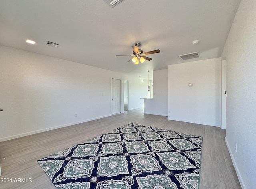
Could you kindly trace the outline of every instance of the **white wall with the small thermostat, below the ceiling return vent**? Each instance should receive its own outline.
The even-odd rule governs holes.
[[[220,58],[168,66],[168,119],[220,126],[220,92]]]

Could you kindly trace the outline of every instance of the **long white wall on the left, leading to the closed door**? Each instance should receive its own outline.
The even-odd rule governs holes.
[[[0,141],[110,116],[111,78],[123,74],[0,46]]]

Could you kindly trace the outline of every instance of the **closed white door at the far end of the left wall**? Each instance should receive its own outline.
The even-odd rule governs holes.
[[[112,79],[112,114],[121,113],[121,80]]]

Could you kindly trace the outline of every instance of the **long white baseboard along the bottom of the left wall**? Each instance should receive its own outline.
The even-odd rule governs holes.
[[[21,133],[21,134],[18,134],[18,135],[12,135],[12,136],[9,136],[9,137],[0,138],[0,142],[11,140],[11,139],[16,139],[16,138],[20,138],[20,137],[25,137],[25,136],[28,136],[28,135],[33,135],[33,134],[36,134],[36,133],[42,133],[42,132],[50,131],[50,130],[54,130],[54,129],[59,129],[59,128],[62,128],[62,127],[68,127],[68,126],[76,125],[76,124],[79,124],[79,123],[85,123],[85,122],[88,122],[88,121],[93,121],[93,120],[96,120],[96,119],[101,119],[101,118],[109,117],[109,116],[111,116],[111,114],[100,116],[100,117],[94,117],[92,119],[76,121],[76,122],[73,122],[73,123],[67,123],[67,124],[64,124],[64,125],[49,127],[49,128],[45,128],[45,129],[39,129],[39,130],[36,130],[36,131]]]

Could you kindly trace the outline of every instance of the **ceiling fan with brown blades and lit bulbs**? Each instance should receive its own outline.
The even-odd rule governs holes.
[[[147,54],[154,54],[154,53],[159,53],[160,50],[152,50],[152,51],[148,51],[148,52],[143,52],[143,50],[139,49],[140,47],[140,43],[136,43],[135,46],[132,46],[133,48],[133,54],[116,54],[116,56],[134,56],[134,58],[130,59],[128,62],[132,61],[134,62],[134,64],[139,64],[145,62],[145,60],[152,60],[152,58],[149,58],[147,56]]]

